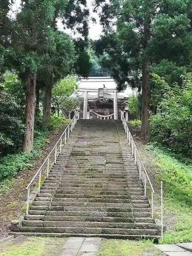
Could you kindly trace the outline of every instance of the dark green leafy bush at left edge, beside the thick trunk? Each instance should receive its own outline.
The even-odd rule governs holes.
[[[0,96],[0,156],[20,148],[24,134],[22,109],[13,96]]]

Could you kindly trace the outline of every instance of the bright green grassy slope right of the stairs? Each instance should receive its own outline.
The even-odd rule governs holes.
[[[146,149],[158,168],[156,183],[163,181],[163,210],[168,231],[160,243],[192,242],[192,166],[154,144]]]

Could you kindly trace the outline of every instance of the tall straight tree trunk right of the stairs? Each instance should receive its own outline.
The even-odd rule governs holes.
[[[149,109],[150,109],[150,90],[148,84],[148,59],[146,48],[149,39],[149,24],[144,24],[144,54],[142,60],[142,114],[141,114],[141,137],[149,140]]]

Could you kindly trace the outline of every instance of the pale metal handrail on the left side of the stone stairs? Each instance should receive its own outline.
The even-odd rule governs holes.
[[[32,180],[30,181],[30,183],[28,184],[28,186],[26,187],[26,190],[28,190],[27,193],[27,205],[26,205],[26,215],[28,215],[28,210],[29,210],[29,197],[30,197],[30,186],[32,184],[32,182],[34,181],[34,179],[38,176],[39,174],[39,182],[38,182],[38,193],[40,193],[40,187],[41,187],[41,174],[42,174],[42,167],[45,165],[45,163],[47,162],[47,178],[49,177],[49,166],[50,166],[50,155],[52,154],[52,152],[54,152],[55,150],[55,157],[54,157],[54,163],[56,163],[57,160],[57,156],[61,153],[62,150],[62,138],[64,136],[64,145],[66,144],[66,140],[67,138],[69,138],[69,133],[70,130],[72,132],[72,130],[74,129],[77,121],[79,119],[79,110],[74,114],[74,117],[72,118],[72,120],[70,121],[70,123],[68,124],[68,126],[66,127],[66,129],[64,130],[64,132],[62,133],[62,135],[60,136],[60,138],[58,139],[58,141],[56,142],[55,146],[52,148],[51,152],[48,154],[48,156],[46,157],[46,159],[44,160],[44,162],[42,163],[42,165],[40,166],[40,168],[38,169],[38,171],[36,172],[36,174],[34,175],[34,177],[32,178]],[[71,127],[70,127],[71,126]],[[59,153],[57,154],[57,148],[58,148],[58,144],[60,143],[60,150]]]

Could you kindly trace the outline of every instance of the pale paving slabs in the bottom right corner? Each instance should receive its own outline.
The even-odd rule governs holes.
[[[156,247],[166,256],[192,256],[192,243],[157,244]]]

